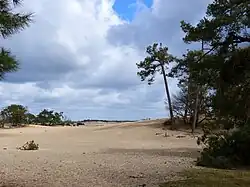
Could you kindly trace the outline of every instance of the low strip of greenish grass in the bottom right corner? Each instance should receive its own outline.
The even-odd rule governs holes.
[[[182,172],[180,180],[166,182],[160,187],[248,187],[249,171],[192,169]]]

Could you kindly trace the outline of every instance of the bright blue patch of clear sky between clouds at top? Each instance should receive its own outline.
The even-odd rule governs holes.
[[[116,0],[113,9],[124,19],[131,21],[136,12],[136,2],[138,0]],[[139,0],[144,3],[147,7],[151,7],[153,0]]]

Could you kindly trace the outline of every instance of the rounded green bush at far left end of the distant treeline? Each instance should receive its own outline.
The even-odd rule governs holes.
[[[1,111],[0,115],[5,123],[11,123],[12,125],[20,125],[26,122],[27,112],[27,107],[12,104],[10,106],[5,107]]]

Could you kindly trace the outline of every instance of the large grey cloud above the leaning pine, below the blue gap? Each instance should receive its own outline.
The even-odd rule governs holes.
[[[131,23],[110,28],[108,40],[115,45],[134,44],[145,49],[153,42],[181,44],[180,21],[200,19],[209,0],[159,0],[152,8],[138,13]]]

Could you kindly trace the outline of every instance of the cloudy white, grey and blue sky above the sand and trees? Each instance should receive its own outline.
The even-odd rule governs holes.
[[[24,0],[33,23],[1,44],[20,70],[0,82],[0,107],[62,111],[72,120],[168,116],[162,77],[148,86],[136,63],[154,42],[181,55],[180,21],[204,15],[210,0]],[[168,79],[171,94],[178,90]]]

